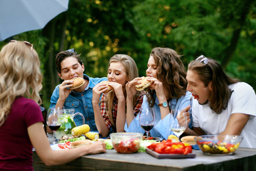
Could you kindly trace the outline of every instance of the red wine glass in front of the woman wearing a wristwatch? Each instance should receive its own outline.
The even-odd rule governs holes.
[[[156,115],[155,110],[153,108],[147,108],[147,109],[140,109],[140,116],[139,116],[139,122],[141,128],[145,130],[147,133],[147,140],[148,140],[148,132],[151,131],[151,129],[155,125]]]

